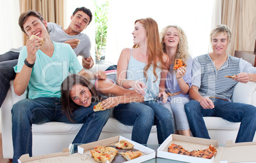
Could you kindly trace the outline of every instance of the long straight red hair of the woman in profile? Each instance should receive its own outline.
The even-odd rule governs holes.
[[[163,53],[160,45],[159,29],[158,29],[157,22],[153,20],[153,18],[141,18],[136,20],[134,24],[136,24],[136,22],[141,23],[146,30],[146,46],[147,46],[147,52],[148,52],[148,64],[144,67],[144,76],[147,80],[148,75],[146,74],[146,71],[152,65],[153,74],[156,77],[155,81],[157,81],[158,76],[157,76],[157,73],[155,72],[155,69],[158,67],[157,59],[160,60],[160,63],[162,66],[164,65],[164,61],[162,59]],[[138,47],[139,45],[134,45],[132,48],[138,48]]]

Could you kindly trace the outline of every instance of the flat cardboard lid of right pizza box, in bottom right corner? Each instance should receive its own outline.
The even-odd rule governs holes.
[[[232,143],[232,141],[227,141],[220,163],[256,162],[255,152],[256,142]]]

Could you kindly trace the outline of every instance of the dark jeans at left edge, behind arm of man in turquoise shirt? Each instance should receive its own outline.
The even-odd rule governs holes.
[[[6,52],[0,55],[0,107],[10,88],[10,81],[15,78],[16,73],[13,67],[18,63],[19,54],[17,52]]]

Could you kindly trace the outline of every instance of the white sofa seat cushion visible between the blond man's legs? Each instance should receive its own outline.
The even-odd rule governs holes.
[[[204,117],[207,129],[238,130],[240,122],[233,123],[220,117]]]

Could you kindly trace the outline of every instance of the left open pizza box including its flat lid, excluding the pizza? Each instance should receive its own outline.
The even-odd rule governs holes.
[[[29,154],[22,155],[20,159],[18,159],[19,163],[97,163],[90,154],[90,150],[94,149],[96,146],[114,146],[115,143],[120,141],[121,139],[125,139],[126,141],[129,141],[134,145],[134,148],[132,150],[139,150],[141,151],[142,155],[136,159],[126,161],[123,159],[123,157],[118,154],[118,157],[116,156],[115,159],[112,161],[112,163],[119,163],[119,162],[129,162],[129,163],[135,163],[135,162],[143,162],[146,160],[150,160],[155,158],[155,150],[152,150],[146,146],[140,145],[139,143],[136,143],[130,139],[124,138],[122,136],[116,136],[113,138],[103,139],[100,141],[95,141],[92,143],[79,145],[78,146],[78,153],[71,154],[69,152],[69,148],[65,148],[63,152],[59,153],[51,153],[47,155],[39,155],[34,157],[29,157]],[[122,161],[117,160],[117,158],[122,159]]]

